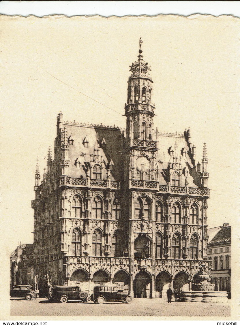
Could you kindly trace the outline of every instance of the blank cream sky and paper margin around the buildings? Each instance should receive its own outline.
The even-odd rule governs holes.
[[[33,241],[33,210],[29,207],[34,199],[35,164],[38,157],[42,174],[44,156],[56,134],[56,115],[62,111],[64,120],[125,127],[122,115],[128,70],[137,60],[141,36],[143,58],[152,67],[155,128],[183,132],[190,126],[200,162],[204,139],[207,143],[208,225],[232,225],[231,304],[236,307],[239,19],[199,14],[122,18],[2,15],[0,26],[4,297],[9,290],[10,253],[18,243]],[[7,300],[3,305],[3,319],[11,319],[6,318]],[[236,310],[232,313],[237,316]]]

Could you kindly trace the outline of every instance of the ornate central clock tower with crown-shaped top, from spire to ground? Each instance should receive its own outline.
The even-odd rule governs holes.
[[[143,60],[142,40],[139,40],[138,60],[130,66],[128,101],[125,105],[126,145],[124,185],[126,202],[126,251],[130,257],[130,293],[134,292],[134,278],[145,275],[146,268],[153,273],[155,256],[154,214],[155,194],[158,191],[156,168],[157,135],[153,134],[155,116],[152,103],[153,81],[147,62]],[[149,267],[150,266],[150,267]],[[141,272],[141,273],[140,273]],[[140,273],[140,274],[139,274]],[[136,276],[138,275],[138,276]],[[146,275],[145,275],[146,276]],[[144,277],[145,277],[144,276]],[[154,291],[146,287],[146,296]],[[135,295],[139,297],[139,290]]]

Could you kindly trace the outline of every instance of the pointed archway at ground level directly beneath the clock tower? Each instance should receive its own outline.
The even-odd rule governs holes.
[[[146,272],[139,272],[133,282],[134,298],[151,298],[152,279]]]

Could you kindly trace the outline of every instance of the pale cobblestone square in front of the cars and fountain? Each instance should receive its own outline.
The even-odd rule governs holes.
[[[32,301],[11,299],[11,316],[230,316],[230,302],[168,303],[165,299],[133,299],[123,303],[50,303],[47,299]]]

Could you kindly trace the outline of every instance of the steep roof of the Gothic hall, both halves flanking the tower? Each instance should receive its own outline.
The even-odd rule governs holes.
[[[75,178],[86,178],[86,164],[93,160],[94,149],[98,149],[98,159],[103,161],[103,179],[107,178],[107,165],[113,161],[114,168],[111,173],[111,180],[123,180],[124,169],[124,133],[123,129],[99,125],[82,125],[78,123],[63,122],[63,128],[67,129],[68,139],[73,140],[73,145],[69,145],[68,175]],[[87,138],[88,147],[84,146],[84,139]],[[159,184],[166,185],[168,182],[168,165],[173,159],[169,153],[172,147],[174,155],[177,154],[181,169],[188,169],[188,186],[197,187],[197,176],[193,169],[192,161],[187,153],[182,156],[183,149],[189,151],[187,141],[183,134],[158,133],[158,152],[156,155],[159,169]],[[99,147],[103,143],[103,148]],[[106,144],[105,144],[106,143]],[[101,157],[102,156],[102,157]],[[78,162],[78,163],[76,163]],[[179,166],[179,165],[177,165]],[[182,174],[182,185],[185,185],[185,175]]]

